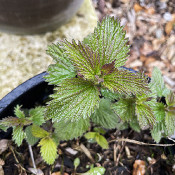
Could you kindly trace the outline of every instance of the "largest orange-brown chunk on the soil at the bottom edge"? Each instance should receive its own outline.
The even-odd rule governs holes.
[[[135,160],[132,175],[144,175],[146,172],[145,162],[143,160]]]

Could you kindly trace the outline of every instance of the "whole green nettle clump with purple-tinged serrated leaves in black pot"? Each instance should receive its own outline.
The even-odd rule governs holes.
[[[55,61],[45,77],[55,85],[52,100],[27,112],[17,106],[16,117],[0,123],[3,129],[13,127],[12,139],[18,146],[23,139],[30,145],[39,141],[43,159],[53,164],[60,141],[78,138],[92,126],[130,126],[137,132],[149,128],[157,143],[174,134],[175,95],[165,87],[158,68],[150,81],[143,73],[122,67],[130,47],[123,28],[106,17],[82,42],[64,40],[48,47]],[[85,137],[108,148],[102,134],[96,129]]]

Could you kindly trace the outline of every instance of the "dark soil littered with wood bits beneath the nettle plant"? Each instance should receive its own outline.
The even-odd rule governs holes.
[[[115,141],[117,138],[129,138],[140,142],[153,143],[149,131],[137,133],[130,129],[123,131],[111,130],[107,132],[105,137],[110,146],[107,150],[102,149],[96,143],[88,143],[84,137],[80,140],[62,142],[58,147],[59,158],[53,166],[48,166],[42,161],[39,155],[39,148],[34,146],[33,152],[37,168],[42,170],[45,175],[53,172],[71,174],[74,172],[73,161],[79,157],[81,163],[77,168],[77,173],[86,172],[90,165],[94,164],[95,166],[105,167],[105,175],[130,175],[133,174],[133,164],[135,161],[142,160],[145,163],[144,169],[146,175],[173,174],[173,165],[175,163],[174,147],[141,146],[135,143]],[[163,140],[162,143],[167,144],[168,141]],[[94,161],[86,156],[80,144],[83,144],[89,150]],[[66,151],[66,148],[77,150],[76,155]],[[31,174],[28,171],[28,168],[32,167],[32,163],[27,143],[23,143],[21,147],[17,147],[11,143],[8,150],[1,156],[5,161],[3,166],[5,175]]]

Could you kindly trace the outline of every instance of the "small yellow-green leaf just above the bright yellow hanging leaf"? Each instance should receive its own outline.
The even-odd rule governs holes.
[[[44,138],[49,136],[49,132],[45,131],[44,129],[40,128],[39,126],[32,125],[32,135],[38,138]]]

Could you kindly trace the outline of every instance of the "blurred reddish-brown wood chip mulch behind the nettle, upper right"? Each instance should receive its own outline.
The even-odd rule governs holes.
[[[158,67],[175,92],[174,0],[93,0],[99,20],[114,16],[125,25],[131,45],[126,67],[151,76]]]

